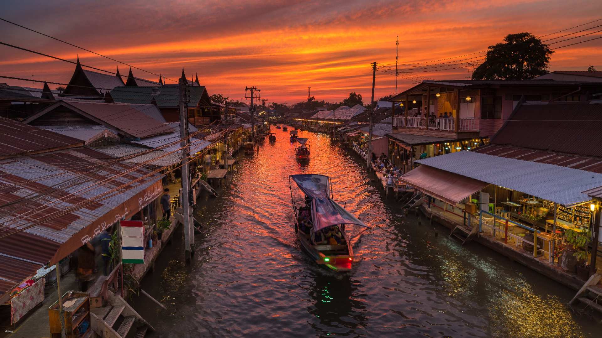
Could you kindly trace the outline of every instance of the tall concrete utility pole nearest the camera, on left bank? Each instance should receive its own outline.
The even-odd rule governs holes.
[[[191,229],[190,222],[190,168],[188,167],[188,97],[186,93],[186,79],[180,79],[180,146],[182,158],[182,221],[184,221],[184,258],[187,264],[190,264],[193,248],[191,247]]]

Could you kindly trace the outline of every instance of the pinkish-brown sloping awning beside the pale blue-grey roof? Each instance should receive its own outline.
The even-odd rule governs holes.
[[[489,184],[427,165],[408,171],[400,177],[400,180],[452,205],[456,205]]]

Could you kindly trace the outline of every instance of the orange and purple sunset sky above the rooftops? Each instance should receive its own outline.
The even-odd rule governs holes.
[[[436,62],[439,68],[424,68],[428,61],[484,51],[509,33],[541,36],[600,19],[602,1],[5,0],[0,13],[4,19],[167,78],[177,79],[184,67],[188,78],[198,73],[209,94],[240,100],[244,87],[255,85],[270,102],[294,103],[305,100],[311,86],[318,100],[338,102],[356,91],[369,102],[370,63],[394,66],[397,35],[400,69],[414,67],[413,73],[398,79],[402,91],[425,78],[466,79],[472,67],[455,65],[455,60],[484,53]],[[542,40],[598,25],[602,20]],[[12,45],[73,61],[79,54],[83,64],[113,72],[118,65],[5,22],[0,22],[0,32],[0,41]],[[596,32],[550,48],[600,36],[602,32]],[[598,39],[558,49],[550,70],[586,70],[589,65],[602,70],[601,47]],[[68,82],[73,68],[0,46],[0,75]],[[121,65],[120,72],[126,75],[126,66]],[[157,81],[140,70],[134,75]],[[31,82],[0,82],[33,87]],[[394,90],[394,76],[377,72],[376,99]]]

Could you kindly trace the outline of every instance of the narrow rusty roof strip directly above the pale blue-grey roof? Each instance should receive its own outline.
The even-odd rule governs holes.
[[[560,165],[562,167],[591,171],[592,173],[602,173],[602,159],[541,152],[533,149],[502,147],[495,146],[494,144],[478,147],[471,151],[487,155],[500,156],[503,158],[514,158],[521,159],[523,161]]]

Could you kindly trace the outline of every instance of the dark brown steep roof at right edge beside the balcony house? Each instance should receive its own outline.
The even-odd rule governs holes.
[[[491,139],[498,146],[602,157],[602,104],[522,105]]]

